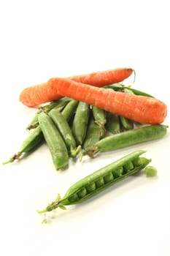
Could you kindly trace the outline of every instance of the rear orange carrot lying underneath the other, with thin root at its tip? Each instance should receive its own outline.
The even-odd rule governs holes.
[[[87,83],[91,86],[107,86],[111,83],[119,83],[128,78],[134,69],[131,68],[117,68],[110,69],[105,71],[93,72],[88,75],[75,75],[69,79],[75,80],[80,83]],[[50,102],[54,99],[60,99],[61,96],[58,95],[55,91],[51,93],[48,91],[48,81],[47,83],[41,83],[36,85],[36,94],[34,94],[34,87],[31,86],[20,93],[20,102],[28,107],[34,107],[36,105],[40,105],[45,102]],[[45,88],[45,89],[44,89]],[[50,89],[51,90],[51,89]],[[43,99],[43,100],[42,100]]]

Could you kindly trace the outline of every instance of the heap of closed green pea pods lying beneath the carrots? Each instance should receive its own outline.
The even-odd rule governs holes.
[[[152,97],[120,83],[105,88]],[[94,157],[98,152],[163,138],[167,127],[136,124],[123,116],[63,97],[39,107],[27,130],[28,136],[18,153],[4,164],[23,159],[46,142],[55,169],[61,170],[69,166],[70,157]]]

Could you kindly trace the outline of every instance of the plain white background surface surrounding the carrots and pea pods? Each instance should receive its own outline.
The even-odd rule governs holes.
[[[52,77],[132,67],[134,88],[169,109],[168,4],[0,1],[1,162],[18,151],[36,112],[19,102],[20,91]],[[1,165],[0,255],[170,255],[169,146],[168,132],[161,140],[70,162],[56,173],[44,145],[20,163]],[[58,192],[135,149],[147,149],[157,177],[130,178],[41,224],[36,210]]]

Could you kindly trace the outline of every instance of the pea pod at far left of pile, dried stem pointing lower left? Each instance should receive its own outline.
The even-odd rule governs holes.
[[[23,157],[26,157],[28,153],[31,153],[32,151],[34,151],[34,149],[36,149],[37,146],[41,145],[43,140],[44,137],[42,135],[42,130],[38,126],[28,134],[26,139],[21,144],[18,153],[10,157],[7,162],[4,162],[4,164],[14,162],[15,160],[20,160]]]

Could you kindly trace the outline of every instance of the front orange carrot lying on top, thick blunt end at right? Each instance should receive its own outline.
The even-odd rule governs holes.
[[[52,78],[46,86],[32,87],[31,94],[36,96],[37,89],[42,94],[41,103],[59,94],[143,124],[161,124],[167,114],[166,104],[159,99],[97,88],[67,78]]]

